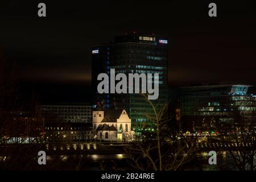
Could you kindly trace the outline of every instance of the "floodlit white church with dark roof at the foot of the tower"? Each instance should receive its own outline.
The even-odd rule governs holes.
[[[109,142],[131,142],[134,131],[125,109],[101,109],[97,106],[92,113],[93,133],[97,140]]]

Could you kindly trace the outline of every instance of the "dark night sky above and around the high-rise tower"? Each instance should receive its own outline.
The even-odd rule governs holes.
[[[210,2],[217,17],[208,16]],[[0,2],[0,23],[0,49],[21,81],[84,88],[90,47],[137,31],[168,36],[170,86],[256,83],[256,1],[9,0]]]

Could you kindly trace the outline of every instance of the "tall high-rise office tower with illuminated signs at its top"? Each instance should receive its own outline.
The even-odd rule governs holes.
[[[155,73],[159,74],[159,97],[151,102],[159,111],[168,102],[167,86],[167,45],[166,36],[148,34],[125,34],[116,36],[114,43],[92,47],[92,86],[93,101],[102,102],[106,107],[125,107],[131,118],[132,127],[139,132],[142,126],[154,127],[154,110],[142,94],[98,94],[97,81],[100,73],[115,74]],[[115,84],[118,81],[115,82]]]

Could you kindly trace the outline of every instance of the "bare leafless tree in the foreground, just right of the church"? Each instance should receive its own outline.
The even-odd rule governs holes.
[[[147,97],[145,96],[145,99]],[[146,133],[135,144],[126,147],[128,162],[140,170],[179,170],[193,159],[197,138],[186,138],[181,132],[180,121],[167,114],[167,104],[158,112],[150,100],[155,115],[155,139]]]

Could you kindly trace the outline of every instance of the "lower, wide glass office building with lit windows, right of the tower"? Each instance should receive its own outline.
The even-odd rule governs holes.
[[[250,85],[207,85],[181,88],[181,121],[191,129],[211,122],[256,122],[256,96]]]

